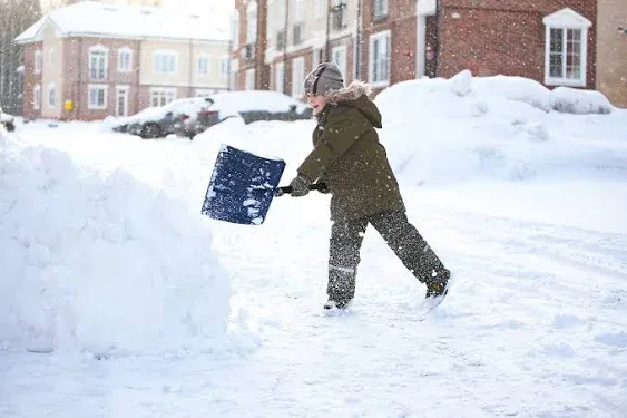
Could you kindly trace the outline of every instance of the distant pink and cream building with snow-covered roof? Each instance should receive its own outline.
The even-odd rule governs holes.
[[[92,1],[21,33],[26,118],[102,119],[228,87],[228,30],[197,16]],[[207,29],[212,28],[212,29]]]

